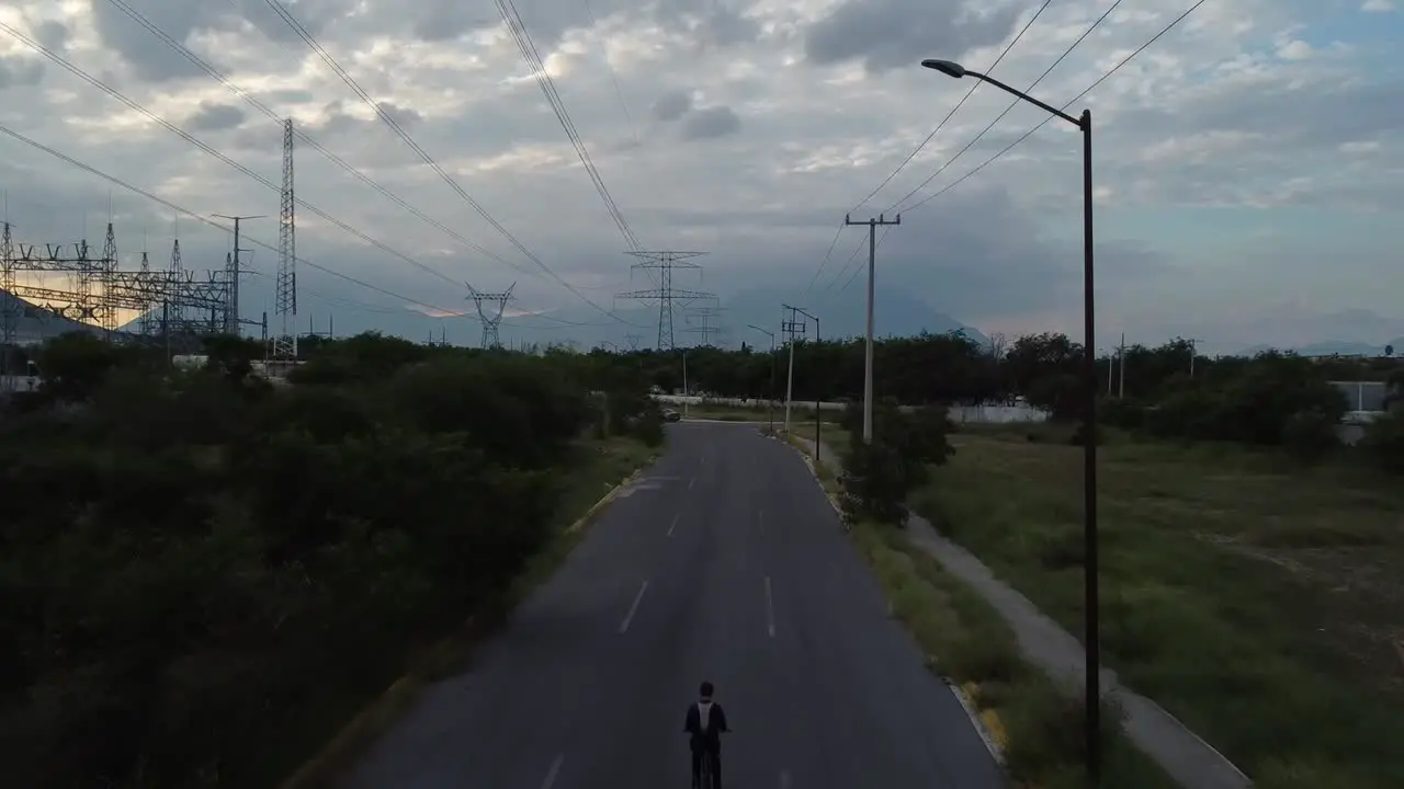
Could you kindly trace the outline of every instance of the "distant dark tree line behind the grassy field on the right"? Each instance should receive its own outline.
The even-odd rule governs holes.
[[[1082,407],[1082,345],[1042,333],[980,343],[959,333],[875,341],[873,390],[907,406],[1022,402],[1053,420],[1077,421]],[[799,341],[793,347],[793,397],[861,402],[861,340]],[[789,350],[715,347],[687,351],[592,352],[640,372],[665,392],[682,389],[684,357],[691,392],[722,397],[785,396]],[[1349,410],[1331,382],[1380,382],[1390,414],[1375,420],[1362,446],[1391,466],[1404,448],[1398,407],[1404,362],[1393,358],[1306,358],[1262,351],[1252,357],[1203,357],[1191,341],[1130,345],[1097,359],[1099,424],[1157,438],[1236,441],[1287,446],[1316,458],[1338,444]]]

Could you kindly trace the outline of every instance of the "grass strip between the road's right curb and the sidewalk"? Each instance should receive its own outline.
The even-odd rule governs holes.
[[[834,430],[824,442],[840,451],[848,437]],[[816,468],[816,473],[828,494],[837,497],[833,472]],[[849,536],[878,576],[892,615],[925,653],[928,668],[956,681],[979,710],[1015,786],[1085,789],[1082,705],[1024,660],[1000,614],[907,539],[904,531],[859,522]],[[1116,720],[1118,712],[1108,708],[1102,719]],[[1104,730],[1101,786],[1177,789],[1119,727]]]

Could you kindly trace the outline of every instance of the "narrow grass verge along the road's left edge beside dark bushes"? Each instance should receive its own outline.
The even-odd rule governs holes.
[[[609,493],[630,472],[647,465],[657,452],[628,438],[585,439],[576,446],[580,453],[566,480],[557,517],[559,533],[518,576],[512,588],[483,611],[465,611],[469,618],[455,633],[417,649],[407,661],[406,674],[373,699],[343,699],[345,722],[336,737],[289,776],[281,789],[331,789],[337,778],[369,747],[380,733],[393,726],[424,687],[435,679],[463,671],[473,647],[490,636],[512,608],[560,566],[580,542],[585,528],[571,531],[581,515]],[[359,710],[359,712],[357,712]],[[324,722],[323,722],[324,723]]]

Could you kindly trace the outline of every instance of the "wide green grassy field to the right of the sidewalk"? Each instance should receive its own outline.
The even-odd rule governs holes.
[[[1077,633],[1081,449],[974,428],[915,508]],[[1404,786],[1404,484],[1237,446],[1099,448],[1104,660],[1262,789]]]

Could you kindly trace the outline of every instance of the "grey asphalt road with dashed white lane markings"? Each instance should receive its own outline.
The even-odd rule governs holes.
[[[688,786],[703,678],[736,730],[729,788],[1004,786],[799,455],[699,423],[670,425],[667,453],[345,785]]]

